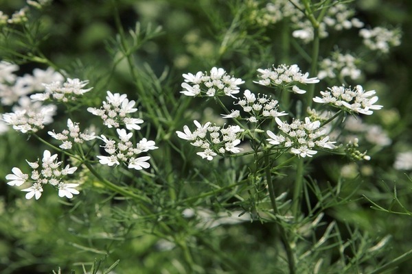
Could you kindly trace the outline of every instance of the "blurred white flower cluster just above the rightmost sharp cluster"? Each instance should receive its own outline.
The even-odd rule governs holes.
[[[350,77],[352,80],[358,79],[361,76],[361,70],[356,67],[356,62],[356,58],[349,53],[334,52],[331,58],[325,58],[321,61],[317,77],[319,79],[326,77],[333,79],[339,76],[340,79],[344,77]]]

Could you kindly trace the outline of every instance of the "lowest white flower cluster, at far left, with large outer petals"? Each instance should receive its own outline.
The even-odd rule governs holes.
[[[43,152],[43,159],[41,164],[36,162],[28,162],[27,164],[33,169],[30,178],[28,174],[23,173],[19,168],[14,167],[12,169],[13,174],[8,174],[5,179],[10,180],[7,184],[10,186],[21,186],[25,182],[31,182],[32,186],[30,188],[22,189],[21,191],[27,192],[25,195],[26,199],[32,199],[35,197],[36,200],[39,199],[43,192],[43,186],[50,184],[58,189],[58,196],[73,198],[73,194],[79,194],[76,190],[76,186],[79,184],[66,184],[62,182],[62,179],[69,174],[73,174],[77,167],[70,167],[69,164],[65,166],[64,169],[59,169],[62,162],[58,162],[57,154],[52,155],[50,151],[45,150]]]

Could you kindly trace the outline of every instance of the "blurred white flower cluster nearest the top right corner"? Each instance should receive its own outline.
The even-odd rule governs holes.
[[[388,53],[391,47],[400,45],[401,34],[398,29],[389,30],[385,27],[374,27],[373,29],[361,29],[359,36],[363,43],[373,51]]]

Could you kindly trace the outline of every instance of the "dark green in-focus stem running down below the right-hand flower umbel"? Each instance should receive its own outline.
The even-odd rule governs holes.
[[[272,174],[271,174],[271,164],[269,163],[268,155],[265,156],[264,161],[265,161],[266,183],[268,184],[269,197],[271,197],[271,205],[273,208],[274,216],[277,221],[277,227],[279,228],[279,234],[280,234],[280,237],[282,238],[282,242],[286,250],[286,256],[288,258],[289,273],[295,274],[296,266],[295,266],[295,257],[293,256],[293,250],[292,250],[292,247],[290,247],[289,237],[286,234],[286,230],[284,229],[283,221],[279,219],[278,217],[279,210],[277,209],[277,205],[276,205],[275,188],[273,186]]]

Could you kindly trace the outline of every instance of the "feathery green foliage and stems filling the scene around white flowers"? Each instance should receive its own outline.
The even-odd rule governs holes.
[[[60,103],[54,123],[39,132],[10,129],[0,136],[1,273],[412,271],[407,263],[412,238],[404,233],[412,228],[410,169],[405,175],[393,167],[397,153],[411,150],[409,47],[404,42],[376,53],[355,28],[328,29],[322,37],[319,27],[342,4],[353,8],[366,28],[398,27],[407,41],[411,3],[289,1],[299,21],[312,27],[313,39],[304,42],[293,35],[293,16],[273,21],[269,2],[282,1],[62,0],[31,6],[21,23],[0,18],[0,55],[19,64],[19,76],[51,67],[93,86],[78,101]],[[5,1],[3,12],[11,16],[24,5]],[[256,70],[272,64],[299,64],[316,77],[322,60],[345,53],[355,56],[357,79],[326,77],[299,86],[308,90],[305,95],[289,92],[290,86],[255,83]],[[183,73],[211,67],[244,79],[237,97],[246,89],[271,95],[279,112],[289,113],[282,121],[310,116],[330,125],[342,145],[323,147],[313,158],[291,154],[287,146],[268,143],[266,129],[275,132],[279,125],[274,119],[255,125],[242,117],[223,120],[221,113],[240,109],[236,100],[181,94]],[[373,116],[341,109],[322,118],[320,108],[307,114],[312,97],[342,84],[376,90],[384,108]],[[149,169],[99,164],[95,156],[104,151],[102,140],[67,152],[47,135],[62,132],[70,118],[82,130],[93,125],[96,135],[117,138],[113,128],[103,128],[102,119],[87,112],[100,108],[106,90],[136,101],[135,117],[144,123],[130,140],[147,138],[159,147],[149,153]],[[13,111],[4,103],[0,110]],[[354,117],[358,128],[345,126]],[[225,151],[211,161],[199,157],[198,147],[176,134],[185,125],[193,128],[194,120],[240,125],[244,152]],[[382,135],[389,143],[377,140]],[[353,136],[356,143],[345,149]],[[19,188],[6,186],[14,166],[28,173],[24,159],[35,161],[45,149],[58,153],[63,167],[78,167],[68,181],[80,184],[73,199],[45,189],[41,199],[27,200]]]

